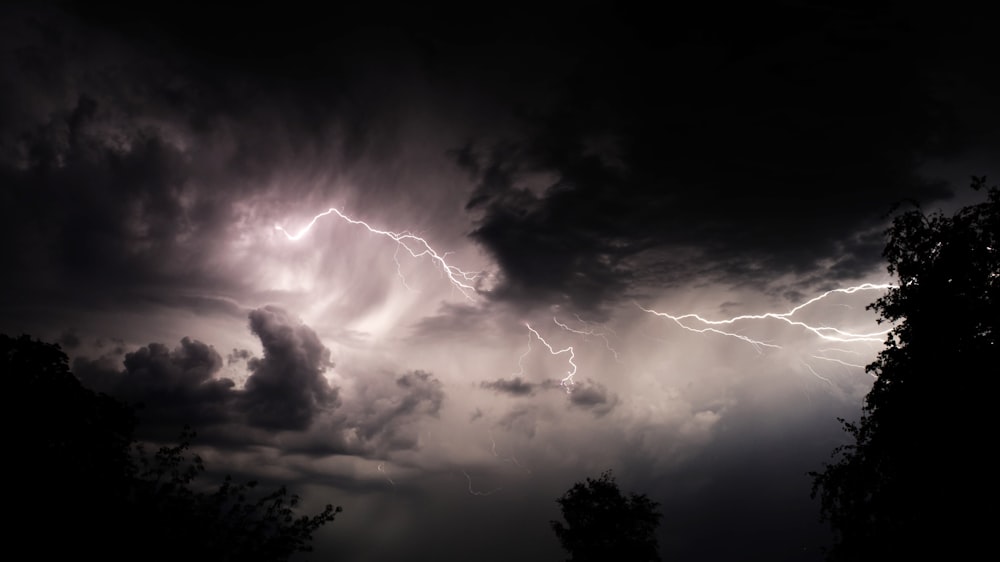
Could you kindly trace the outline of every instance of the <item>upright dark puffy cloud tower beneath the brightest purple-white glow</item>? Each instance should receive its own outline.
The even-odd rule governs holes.
[[[303,430],[316,415],[339,404],[337,389],[323,376],[330,350],[312,328],[267,306],[250,313],[250,330],[264,356],[251,359],[239,409],[254,427]]]

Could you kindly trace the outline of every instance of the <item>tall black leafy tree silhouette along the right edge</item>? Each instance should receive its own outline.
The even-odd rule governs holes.
[[[1000,190],[986,195],[950,217],[902,213],[887,231],[898,283],[869,308],[894,327],[867,367],[877,380],[861,419],[840,420],[853,443],[811,473],[836,533],[830,560],[972,558],[992,536],[979,504],[995,488],[982,457],[1000,359]]]

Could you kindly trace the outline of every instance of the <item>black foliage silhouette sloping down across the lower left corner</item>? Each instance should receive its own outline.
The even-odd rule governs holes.
[[[0,374],[26,412],[11,420],[21,428],[14,499],[26,510],[13,536],[40,539],[39,558],[282,561],[311,550],[341,511],[296,516],[299,498],[285,487],[251,500],[256,483],[229,477],[214,492],[196,489],[205,468],[187,454],[194,432],[148,455],[131,409],[84,388],[58,345],[0,334]]]

